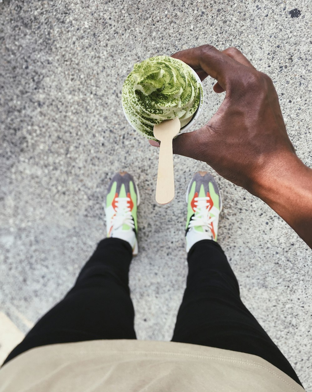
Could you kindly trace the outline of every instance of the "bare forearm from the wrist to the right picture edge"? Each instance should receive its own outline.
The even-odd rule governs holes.
[[[280,215],[312,249],[312,169],[297,156],[288,156],[271,166],[252,193]]]

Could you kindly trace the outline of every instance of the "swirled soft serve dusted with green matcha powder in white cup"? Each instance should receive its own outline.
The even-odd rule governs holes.
[[[134,129],[156,140],[154,124],[178,117],[181,129],[203,104],[203,89],[183,61],[155,56],[134,64],[122,87],[122,107]]]

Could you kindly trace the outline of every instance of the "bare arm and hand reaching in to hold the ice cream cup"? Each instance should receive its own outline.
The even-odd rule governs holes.
[[[173,55],[203,80],[226,91],[218,111],[201,129],[173,141],[177,154],[208,163],[261,198],[312,248],[312,170],[296,156],[272,80],[235,48],[203,45]]]

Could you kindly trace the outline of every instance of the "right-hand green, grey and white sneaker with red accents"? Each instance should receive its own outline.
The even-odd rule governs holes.
[[[211,174],[197,172],[186,191],[186,252],[197,241],[217,241],[222,200],[218,185]]]

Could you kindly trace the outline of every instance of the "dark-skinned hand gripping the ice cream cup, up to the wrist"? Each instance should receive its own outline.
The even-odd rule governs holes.
[[[201,80],[208,75],[216,79],[216,93],[226,91],[221,106],[204,127],[174,139],[174,153],[208,163],[254,194],[256,184],[269,181],[276,166],[286,168],[296,159],[272,80],[238,49],[220,52],[203,45],[173,57],[195,69]]]

